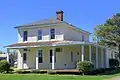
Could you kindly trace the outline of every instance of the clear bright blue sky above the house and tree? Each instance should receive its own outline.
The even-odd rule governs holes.
[[[113,14],[120,12],[120,0],[1,0],[0,51],[17,42],[17,25],[55,18],[56,10],[64,11],[64,20],[93,32]]]

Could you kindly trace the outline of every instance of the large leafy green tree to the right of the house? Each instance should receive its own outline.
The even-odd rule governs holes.
[[[104,24],[97,25],[94,28],[93,40],[99,45],[117,47],[120,59],[120,13],[107,19]]]

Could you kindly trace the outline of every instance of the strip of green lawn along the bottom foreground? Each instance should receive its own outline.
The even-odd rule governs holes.
[[[120,74],[119,74],[120,75]],[[81,75],[43,75],[43,74],[1,74],[0,80],[103,80],[115,75],[81,76]]]

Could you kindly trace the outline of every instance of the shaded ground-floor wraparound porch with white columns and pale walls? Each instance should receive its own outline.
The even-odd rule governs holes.
[[[62,51],[56,52],[57,48]],[[8,48],[8,52],[9,49],[11,48]],[[95,68],[109,67],[106,48],[92,44],[53,45],[14,49],[18,50],[19,69],[76,69],[78,61],[91,61]],[[24,49],[27,49],[27,51],[24,51]],[[42,63],[39,63],[39,50],[42,50]],[[23,57],[24,53],[26,53],[26,62]]]

